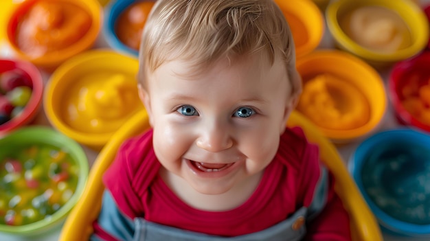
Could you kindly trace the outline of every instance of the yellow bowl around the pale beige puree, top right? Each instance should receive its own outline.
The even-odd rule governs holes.
[[[339,25],[339,19],[354,8],[363,6],[381,6],[396,12],[406,25],[411,34],[411,45],[397,51],[383,53],[372,51],[354,42]],[[326,21],[328,30],[332,34],[340,49],[363,58],[372,65],[391,65],[394,62],[409,58],[418,54],[429,40],[429,23],[427,17],[414,1],[387,1],[387,0],[339,0],[332,1],[326,9]]]

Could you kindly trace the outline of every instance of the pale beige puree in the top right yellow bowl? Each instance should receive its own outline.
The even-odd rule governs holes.
[[[405,21],[388,8],[356,8],[340,18],[339,24],[353,41],[372,51],[390,53],[411,45]]]

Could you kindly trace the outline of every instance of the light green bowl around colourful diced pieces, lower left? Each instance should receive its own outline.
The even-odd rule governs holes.
[[[50,218],[43,218],[25,225],[0,224],[0,233],[13,236],[34,236],[57,227],[65,220],[69,211],[76,204],[87,183],[89,164],[87,155],[82,147],[76,141],[47,126],[27,126],[2,137],[0,139],[0,160],[11,152],[19,152],[22,148],[34,144],[54,146],[67,151],[71,159],[76,161],[79,168],[76,190],[71,198],[55,211]]]

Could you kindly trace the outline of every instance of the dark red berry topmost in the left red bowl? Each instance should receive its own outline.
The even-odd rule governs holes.
[[[30,76],[21,69],[12,69],[0,74],[0,89],[3,92],[11,91],[16,87],[30,87],[30,89],[33,89]]]

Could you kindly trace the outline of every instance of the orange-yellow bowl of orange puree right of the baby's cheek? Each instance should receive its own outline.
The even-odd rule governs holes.
[[[343,130],[324,128],[315,122],[314,124],[331,141],[346,143],[357,140],[369,135],[381,123],[387,105],[383,80],[376,70],[363,60],[340,50],[319,50],[299,58],[297,60],[297,70],[302,76],[304,87],[306,87],[310,78],[321,74],[329,74],[355,87],[364,95],[369,104],[369,119],[365,124],[357,128]],[[341,88],[339,90],[342,91]],[[345,93],[343,95],[348,96]]]

